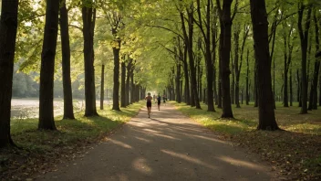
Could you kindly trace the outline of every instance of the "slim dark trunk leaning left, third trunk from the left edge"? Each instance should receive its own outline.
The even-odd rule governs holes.
[[[72,104],[72,88],[70,79],[70,43],[66,1],[60,0],[60,36],[62,52],[62,80],[64,91],[64,119],[75,119]]]

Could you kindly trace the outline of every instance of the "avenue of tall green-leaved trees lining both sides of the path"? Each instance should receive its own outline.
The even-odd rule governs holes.
[[[275,101],[321,105],[318,0],[2,0],[0,18],[0,147],[14,144],[13,94],[39,97],[44,130],[55,89],[64,119],[75,95],[98,116],[98,97],[121,111],[147,91],[222,118],[251,101],[270,131]]]

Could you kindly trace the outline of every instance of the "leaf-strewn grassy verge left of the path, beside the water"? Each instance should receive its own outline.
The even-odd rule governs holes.
[[[58,131],[38,131],[37,119],[16,119],[11,122],[14,142],[22,149],[0,150],[0,180],[20,180],[35,173],[45,174],[55,170],[58,163],[83,156],[92,143],[128,122],[140,110],[143,102],[134,103],[121,112],[105,107],[99,116],[84,117],[84,112],[75,114],[76,120],[62,120],[58,116]]]

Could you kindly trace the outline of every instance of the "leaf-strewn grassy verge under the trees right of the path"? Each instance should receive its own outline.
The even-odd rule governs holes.
[[[221,109],[206,112],[207,106],[196,110],[183,103],[174,103],[179,111],[200,122],[223,139],[259,154],[274,170],[289,180],[321,179],[321,111],[298,114],[296,105],[290,108],[277,103],[275,118],[285,132],[256,131],[258,111],[253,105],[233,108],[236,119],[221,119]]]

